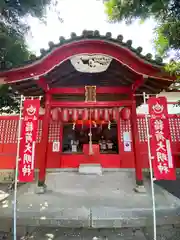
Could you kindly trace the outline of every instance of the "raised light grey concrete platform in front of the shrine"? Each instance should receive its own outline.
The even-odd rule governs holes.
[[[49,173],[48,191],[34,194],[36,184],[18,190],[18,224],[123,228],[152,225],[150,184],[146,194],[133,191],[134,173],[109,172],[103,176]],[[180,223],[180,200],[155,186],[157,223]],[[1,202],[1,218],[12,218],[12,198]],[[168,216],[168,217],[167,217]]]

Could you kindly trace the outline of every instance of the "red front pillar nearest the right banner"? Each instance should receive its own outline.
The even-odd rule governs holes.
[[[136,170],[136,184],[143,185],[143,172],[142,172],[142,162],[141,162],[141,154],[139,147],[139,132],[138,132],[138,124],[137,124],[137,113],[136,113],[136,101],[132,100],[132,108],[131,108],[131,126],[132,126],[132,142],[134,149],[134,162],[135,162],[135,170]]]

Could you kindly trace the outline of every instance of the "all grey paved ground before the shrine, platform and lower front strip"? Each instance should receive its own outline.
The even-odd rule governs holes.
[[[35,184],[19,188],[17,240],[153,239],[148,180],[146,194],[134,193],[130,172],[54,173],[48,174],[47,185],[44,195],[34,194]],[[7,185],[0,189],[3,194]],[[179,240],[180,200],[156,185],[155,196],[158,224],[162,224],[157,227],[157,240]],[[12,202],[11,196],[1,202],[0,239],[13,239]]]

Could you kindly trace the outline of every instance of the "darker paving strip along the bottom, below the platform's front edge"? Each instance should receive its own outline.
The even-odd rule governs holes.
[[[12,240],[11,232],[0,232],[0,239]],[[123,229],[73,229],[50,227],[18,227],[17,240],[153,240],[152,228]],[[180,228],[157,228],[157,240],[179,240]]]

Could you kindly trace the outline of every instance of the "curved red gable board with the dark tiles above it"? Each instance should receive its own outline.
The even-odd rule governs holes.
[[[83,35],[77,37],[72,34],[71,39],[60,38],[60,43],[54,45],[49,43],[49,51],[41,50],[42,55],[38,59],[17,68],[0,73],[7,77],[7,82],[22,81],[46,75],[56,66],[60,65],[72,56],[79,54],[103,54],[110,56],[129,68],[138,75],[147,75],[152,78],[170,77],[162,71],[163,64],[151,59],[151,54],[142,56],[141,48],[133,49],[132,41],[122,42],[122,36],[112,39],[111,34],[100,36],[97,31],[84,31]],[[160,59],[159,59],[160,60]]]

